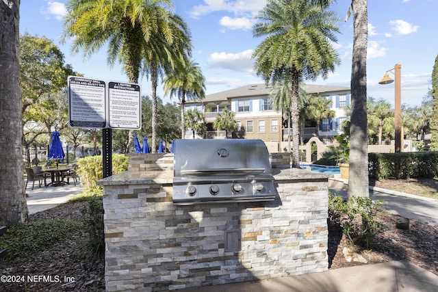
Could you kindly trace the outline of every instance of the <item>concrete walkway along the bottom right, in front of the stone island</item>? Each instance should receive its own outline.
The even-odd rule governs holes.
[[[181,292],[437,292],[438,276],[404,261],[329,269],[321,273],[216,286]]]

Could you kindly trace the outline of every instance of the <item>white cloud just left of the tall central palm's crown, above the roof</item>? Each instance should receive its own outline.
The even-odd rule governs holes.
[[[252,72],[254,62],[251,59],[253,50],[246,50],[240,53],[212,53],[208,58],[211,66],[235,70],[238,72]]]

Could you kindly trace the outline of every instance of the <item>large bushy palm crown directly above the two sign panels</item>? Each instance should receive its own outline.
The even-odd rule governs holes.
[[[149,64],[144,72],[153,75],[163,59],[168,61],[173,52],[187,49],[181,46],[188,44],[187,26],[171,8],[171,0],[70,0],[62,40],[73,38],[73,53],[82,48],[84,57],[108,44],[107,63],[113,66],[118,59],[129,82],[138,83],[142,59]],[[130,150],[133,138],[130,131]]]

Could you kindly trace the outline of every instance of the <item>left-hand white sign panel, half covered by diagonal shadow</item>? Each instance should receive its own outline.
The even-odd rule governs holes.
[[[105,81],[68,77],[68,120],[70,127],[105,128],[107,116]]]

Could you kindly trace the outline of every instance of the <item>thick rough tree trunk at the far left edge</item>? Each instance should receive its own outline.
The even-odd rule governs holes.
[[[0,1],[0,225],[6,226],[28,217],[21,155],[19,8],[20,0]]]

